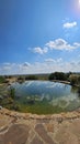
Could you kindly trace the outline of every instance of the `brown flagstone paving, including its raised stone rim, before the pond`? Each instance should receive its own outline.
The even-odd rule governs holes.
[[[0,144],[80,144],[80,111],[32,115],[2,109]]]

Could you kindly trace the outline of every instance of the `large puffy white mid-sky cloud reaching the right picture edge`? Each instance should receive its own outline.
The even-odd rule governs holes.
[[[46,47],[48,47],[50,50],[73,50],[80,47],[80,43],[73,43],[72,45],[69,44],[67,41],[64,39],[57,39],[55,41],[49,41],[46,43]]]

